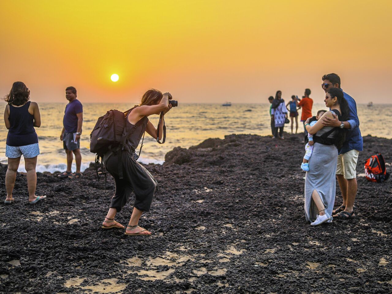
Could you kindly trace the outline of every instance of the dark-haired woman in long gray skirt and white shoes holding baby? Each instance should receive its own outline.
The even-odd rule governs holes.
[[[330,111],[322,117],[334,118],[336,114],[340,121],[346,120],[349,110],[343,91],[338,88],[330,89],[324,102]],[[312,221],[310,225],[319,225],[325,221],[332,222],[338,148],[344,142],[345,129],[324,127],[322,119],[310,126],[309,120],[308,118],[305,122],[305,128],[313,135],[314,149],[305,178],[305,217]]]

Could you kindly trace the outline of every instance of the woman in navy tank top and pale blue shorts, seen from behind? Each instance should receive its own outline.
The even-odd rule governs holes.
[[[35,196],[37,185],[35,167],[40,148],[34,127],[41,126],[40,110],[36,102],[29,101],[30,90],[22,82],[13,83],[11,91],[5,96],[4,100],[7,102],[4,111],[4,123],[8,129],[7,143],[5,144],[5,156],[8,157],[8,168],[5,174],[7,198],[5,198],[4,203],[11,204],[14,201],[12,191],[20,157],[23,155],[27,171],[29,203],[34,204],[46,198],[46,196]]]

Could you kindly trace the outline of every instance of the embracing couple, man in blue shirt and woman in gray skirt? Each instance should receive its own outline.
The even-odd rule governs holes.
[[[363,141],[355,100],[340,88],[337,74],[323,76],[322,87],[326,92],[326,111],[316,123],[305,122],[313,135],[313,152],[305,178],[305,216],[311,225],[332,217],[355,217],[354,199],[357,192],[356,164]],[[333,210],[336,193],[336,176],[343,197],[343,204]]]

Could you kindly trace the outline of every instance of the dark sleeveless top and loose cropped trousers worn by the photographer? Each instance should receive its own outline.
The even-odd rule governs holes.
[[[131,131],[127,139],[127,148],[117,151],[121,152],[121,162],[118,162],[118,155],[114,152],[108,152],[103,156],[105,168],[113,176],[116,183],[116,191],[112,197],[110,207],[120,212],[127,203],[129,196],[132,192],[135,192],[134,207],[141,211],[150,211],[157,183],[150,172],[136,162],[133,157],[147,127],[148,118],[144,116],[136,125],[128,122],[128,118],[125,121],[130,125]],[[118,175],[118,166],[121,164],[123,169],[122,179]]]

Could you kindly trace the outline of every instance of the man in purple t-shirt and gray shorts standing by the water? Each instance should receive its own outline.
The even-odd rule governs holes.
[[[60,140],[63,141],[63,147],[67,154],[67,170],[59,175],[60,178],[80,178],[80,164],[82,163],[82,154],[80,154],[80,135],[82,134],[83,123],[83,106],[76,99],[76,89],[67,87],[65,89],[65,98],[69,101],[65,106],[63,118],[63,130],[61,131]],[[72,174],[71,166],[75,154],[76,172]]]

